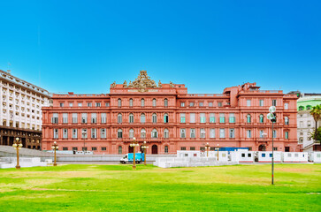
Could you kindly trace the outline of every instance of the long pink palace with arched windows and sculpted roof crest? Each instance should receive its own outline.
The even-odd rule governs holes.
[[[42,150],[57,141],[59,150],[126,154],[133,137],[147,154],[219,147],[300,151],[296,95],[260,90],[256,83],[226,87],[223,94],[187,94],[184,84],[155,83],[146,71],[127,85],[111,84],[110,94],[52,95],[42,107]],[[276,106],[272,132],[266,115]]]

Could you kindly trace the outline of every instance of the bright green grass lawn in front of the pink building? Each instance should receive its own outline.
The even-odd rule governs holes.
[[[321,164],[0,170],[0,211],[321,211]]]

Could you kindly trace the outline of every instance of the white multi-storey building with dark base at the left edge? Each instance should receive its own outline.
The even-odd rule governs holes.
[[[17,137],[24,148],[41,148],[42,107],[49,107],[50,93],[0,70],[0,145]]]

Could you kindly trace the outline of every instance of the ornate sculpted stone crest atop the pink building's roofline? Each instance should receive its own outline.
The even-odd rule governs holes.
[[[147,91],[147,88],[157,88],[157,84],[154,80],[149,78],[147,75],[147,71],[141,71],[140,75],[132,82],[129,81],[129,85],[127,86],[126,81],[124,82],[124,87],[127,88],[137,88],[140,92]],[[158,87],[162,87],[162,83],[158,82]]]

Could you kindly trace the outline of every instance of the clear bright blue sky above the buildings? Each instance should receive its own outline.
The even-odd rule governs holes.
[[[1,1],[0,69],[53,93],[140,70],[188,93],[321,93],[321,1]]]

